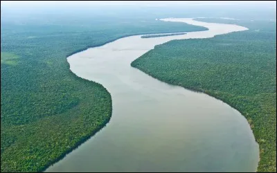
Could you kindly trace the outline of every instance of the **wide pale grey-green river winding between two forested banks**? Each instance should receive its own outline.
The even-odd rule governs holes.
[[[259,149],[247,120],[204,93],[160,82],[130,66],[155,45],[248,30],[193,19],[161,19],[208,28],[186,35],[117,39],[67,58],[80,78],[111,93],[105,128],[46,172],[255,172]]]

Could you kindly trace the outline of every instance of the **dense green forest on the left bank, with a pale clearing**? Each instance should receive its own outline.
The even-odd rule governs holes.
[[[206,30],[69,11],[2,15],[1,6],[1,172],[43,171],[109,122],[111,95],[71,73],[67,56],[128,35]]]

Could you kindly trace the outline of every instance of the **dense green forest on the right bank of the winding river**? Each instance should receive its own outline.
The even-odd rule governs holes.
[[[197,19],[247,31],[155,46],[132,66],[223,100],[247,118],[260,147],[258,172],[276,172],[276,20]]]

